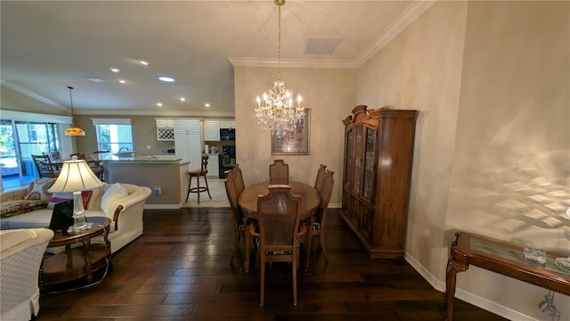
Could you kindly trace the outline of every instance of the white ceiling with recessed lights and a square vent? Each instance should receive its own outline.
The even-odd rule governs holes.
[[[431,2],[288,0],[281,7],[282,67],[356,68]],[[276,65],[273,0],[0,5],[2,85],[68,112],[73,86],[76,114],[233,115],[232,63]],[[305,53],[309,39],[322,37],[339,38],[332,53]],[[175,84],[160,83],[165,74]]]

